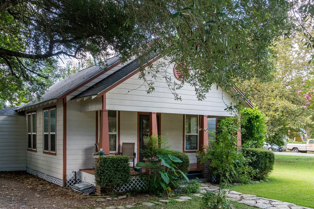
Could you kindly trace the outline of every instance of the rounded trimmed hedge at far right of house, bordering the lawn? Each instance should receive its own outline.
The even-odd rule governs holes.
[[[253,175],[253,180],[263,180],[273,170],[275,155],[272,151],[256,148],[245,148],[243,153],[246,158],[251,159],[248,164],[256,172]]]

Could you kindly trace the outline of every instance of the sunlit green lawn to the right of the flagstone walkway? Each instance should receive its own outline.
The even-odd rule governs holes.
[[[275,155],[270,182],[233,186],[229,189],[245,194],[291,202],[314,208],[314,158]]]

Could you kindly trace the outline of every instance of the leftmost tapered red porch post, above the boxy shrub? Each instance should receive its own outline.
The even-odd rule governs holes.
[[[100,134],[99,149],[102,148],[105,154],[109,154],[109,127],[108,110],[106,110],[106,94],[102,96],[102,110],[100,110]]]

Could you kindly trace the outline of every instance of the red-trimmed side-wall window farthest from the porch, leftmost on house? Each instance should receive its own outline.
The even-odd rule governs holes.
[[[36,152],[36,112],[27,113],[27,149]]]

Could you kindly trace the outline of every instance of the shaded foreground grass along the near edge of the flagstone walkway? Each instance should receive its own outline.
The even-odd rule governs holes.
[[[133,209],[177,209],[177,208],[184,208],[184,209],[198,209],[201,208],[202,205],[202,198],[190,196],[192,197],[192,200],[187,200],[183,202],[178,202],[175,200],[171,200],[170,202],[167,202],[166,204],[156,204],[155,206],[135,206]],[[164,200],[167,198],[163,198]],[[149,199],[149,202],[158,201],[161,200],[160,198],[152,198]],[[139,202],[138,202],[139,203]],[[238,202],[232,202],[233,206],[235,206],[236,209],[256,209],[255,207],[244,205]]]

